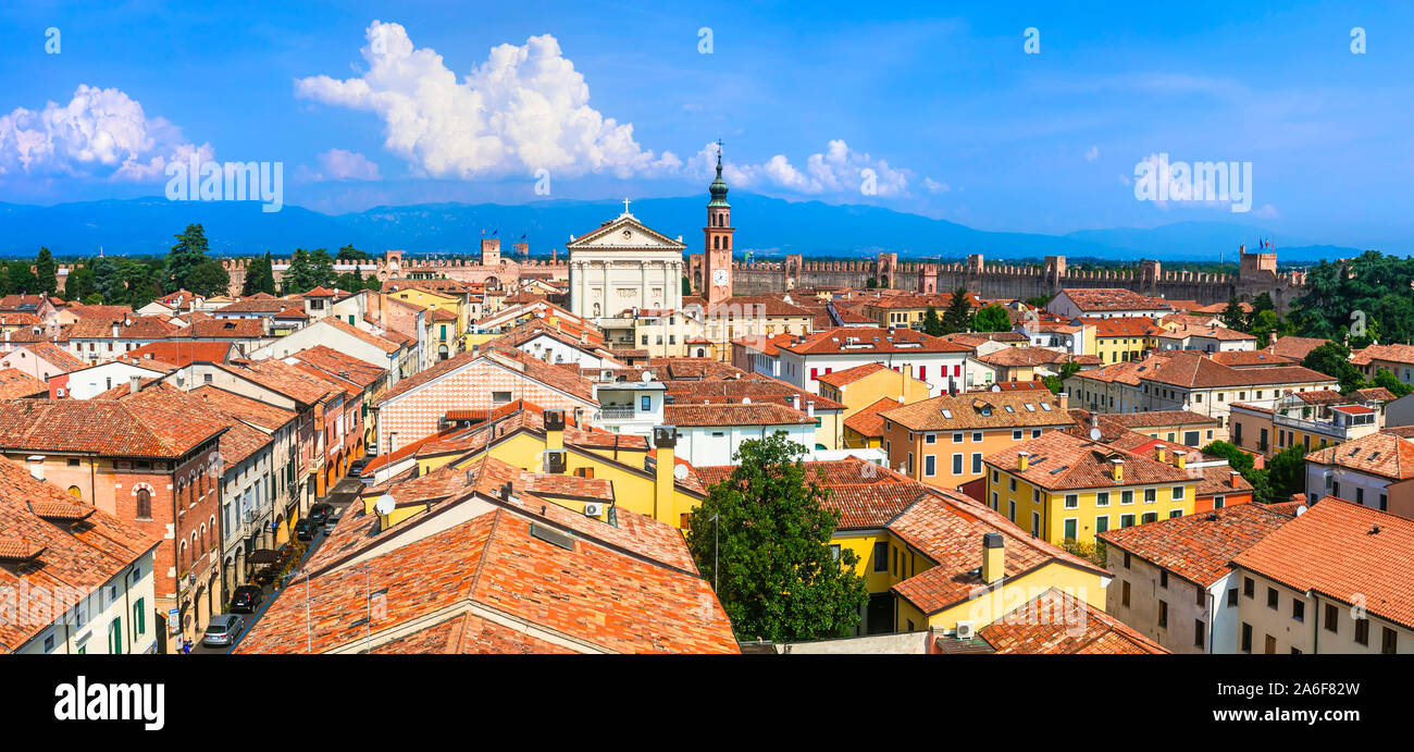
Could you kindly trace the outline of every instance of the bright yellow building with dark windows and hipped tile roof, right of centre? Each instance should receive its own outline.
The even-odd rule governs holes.
[[[1093,543],[1110,529],[1192,515],[1202,474],[1185,461],[1184,448],[1159,444],[1148,457],[1052,431],[984,458],[987,506],[1049,543]]]

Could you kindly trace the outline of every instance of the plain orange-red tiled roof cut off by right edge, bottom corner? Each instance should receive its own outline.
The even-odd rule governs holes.
[[[1233,564],[1414,628],[1414,520],[1326,496]]]

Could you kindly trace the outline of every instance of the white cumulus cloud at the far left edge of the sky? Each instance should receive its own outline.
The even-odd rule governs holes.
[[[95,175],[148,181],[171,160],[211,158],[211,144],[185,143],[164,117],[151,117],[119,89],[79,85],[68,105],[16,107],[0,116],[0,174]]]

